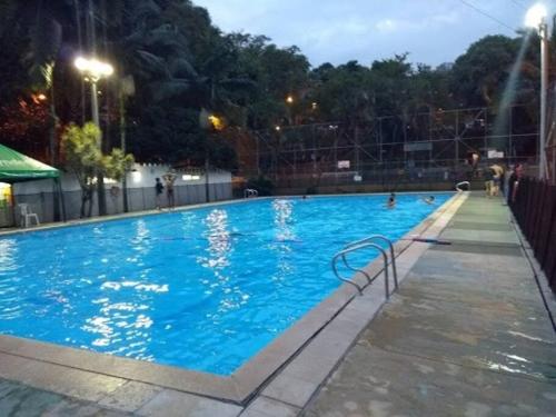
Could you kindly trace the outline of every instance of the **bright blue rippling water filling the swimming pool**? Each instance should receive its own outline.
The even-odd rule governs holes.
[[[0,332],[230,375],[339,286],[344,245],[398,239],[449,197],[251,200],[0,238]]]

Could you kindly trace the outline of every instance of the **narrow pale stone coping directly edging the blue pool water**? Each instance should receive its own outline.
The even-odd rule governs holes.
[[[338,195],[337,197],[345,195]],[[433,226],[447,214],[449,207],[461,200],[461,196],[465,196],[464,200],[467,198],[467,193],[455,193],[423,221],[405,234],[400,240],[395,244],[396,258],[415,244],[404,239],[424,236],[427,231],[434,231],[431,230]],[[188,206],[187,209],[242,201],[249,200]],[[158,211],[152,214],[158,214]],[[122,217],[118,217],[118,219],[121,218]],[[451,216],[449,216],[449,218],[451,218]],[[101,218],[98,221],[107,221],[107,218]],[[439,225],[440,229],[444,229],[449,219],[445,219],[444,226]],[[66,226],[69,225],[62,225],[60,227]],[[438,232],[439,231],[437,231],[436,235]],[[371,277],[378,277],[383,271],[381,260],[373,260],[367,265],[365,270]],[[366,288],[369,287],[363,275],[356,275],[355,280]],[[29,361],[28,365],[31,368],[37,364],[47,364],[51,366],[53,373],[60,367],[71,368],[93,375],[120,378],[125,383],[138,381],[237,405],[245,405],[249,399],[262,390],[269,380],[279,375],[320,331],[332,322],[356,296],[357,290],[353,286],[342,284],[230,376],[218,376],[8,335],[0,335],[0,358],[2,361],[10,359],[10,357],[23,359]],[[380,306],[378,306],[378,308],[380,308]],[[0,371],[0,375],[4,373]],[[31,376],[28,374],[23,376],[18,376],[18,373],[12,374],[11,379],[33,385],[32,373],[30,373]],[[42,388],[48,389],[48,387]]]

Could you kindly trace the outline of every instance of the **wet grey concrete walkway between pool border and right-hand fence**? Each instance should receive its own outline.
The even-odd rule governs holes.
[[[471,196],[305,409],[556,416],[556,336],[507,207]]]

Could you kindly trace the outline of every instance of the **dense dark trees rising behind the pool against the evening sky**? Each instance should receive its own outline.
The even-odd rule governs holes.
[[[200,166],[209,158],[232,168],[229,142],[200,115],[258,130],[496,106],[524,36],[486,37],[438,68],[407,54],[311,68],[296,47],[222,33],[189,0],[0,0],[0,141],[42,158],[44,149],[58,152],[63,127],[90,113],[88,85],[72,61],[96,51],[116,67],[99,85],[105,151],[119,146],[126,119],[139,161]],[[526,53],[515,101],[537,100],[537,49]]]

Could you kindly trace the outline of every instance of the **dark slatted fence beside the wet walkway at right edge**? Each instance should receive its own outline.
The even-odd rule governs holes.
[[[522,179],[512,211],[556,292],[556,186]]]

